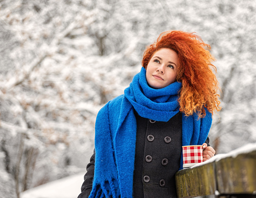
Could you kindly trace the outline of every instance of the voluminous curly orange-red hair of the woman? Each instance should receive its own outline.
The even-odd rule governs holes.
[[[153,54],[161,48],[174,50],[178,54],[177,81],[182,82],[179,92],[180,111],[186,116],[194,113],[199,117],[206,115],[205,108],[212,114],[221,110],[217,93],[220,90],[212,69],[215,60],[209,50],[210,45],[204,43],[194,32],[166,31],[162,32],[156,42],[149,45],[142,59],[142,67],[147,69]]]

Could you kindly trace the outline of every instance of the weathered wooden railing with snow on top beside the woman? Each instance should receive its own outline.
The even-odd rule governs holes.
[[[256,198],[256,144],[180,170],[175,180],[178,197]]]

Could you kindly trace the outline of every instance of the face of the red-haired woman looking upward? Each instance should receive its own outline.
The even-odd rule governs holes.
[[[148,62],[146,79],[150,87],[161,89],[176,81],[178,54],[171,49],[161,48]]]

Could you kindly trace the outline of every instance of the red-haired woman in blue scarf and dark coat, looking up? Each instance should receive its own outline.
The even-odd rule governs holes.
[[[167,31],[145,50],[124,95],[97,115],[78,197],[176,197],[182,146],[203,144],[204,161],[215,154],[208,133],[220,102],[209,48],[193,33]]]

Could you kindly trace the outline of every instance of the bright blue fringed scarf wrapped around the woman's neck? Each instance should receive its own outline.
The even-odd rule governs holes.
[[[180,82],[162,89],[150,88],[146,70],[133,78],[124,95],[109,101],[99,111],[95,124],[95,172],[91,197],[133,197],[133,171],[136,143],[136,118],[167,122],[179,112]],[[206,116],[182,114],[182,146],[203,144],[212,124]],[[181,148],[180,148],[181,149]],[[180,169],[182,169],[182,157]]]

